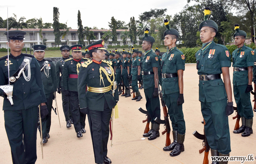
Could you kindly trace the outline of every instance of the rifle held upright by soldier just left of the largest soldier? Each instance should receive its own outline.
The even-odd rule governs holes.
[[[157,83],[158,83],[158,81],[157,81]],[[165,102],[163,101],[163,94],[159,88],[159,83],[158,83],[158,93],[159,93],[161,103],[163,106],[163,117],[165,118],[165,120],[161,120],[160,118],[156,117],[155,122],[157,122],[158,124],[164,124],[163,126],[164,126],[165,130],[162,132],[162,135],[166,133],[165,146],[167,147],[171,144],[171,140],[170,140],[171,127],[170,127],[170,122],[169,122],[169,118],[168,118],[167,108],[166,108]]]

